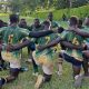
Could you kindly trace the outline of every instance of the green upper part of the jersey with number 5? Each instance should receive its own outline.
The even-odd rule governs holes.
[[[7,46],[19,43],[22,40],[22,38],[29,36],[29,31],[27,29],[19,28],[18,26],[9,26],[1,28],[0,34],[3,43]],[[2,51],[6,50],[3,49]],[[13,51],[12,53],[17,57],[18,55],[20,55],[20,51]]]

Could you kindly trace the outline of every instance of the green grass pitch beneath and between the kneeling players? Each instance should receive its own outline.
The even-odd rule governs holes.
[[[2,19],[8,21],[8,18],[3,17]],[[31,23],[32,20],[33,19],[30,18],[30,19],[28,19],[28,22]],[[66,23],[63,23],[63,22],[60,22],[60,24],[66,27]],[[26,72],[21,72],[19,75],[19,78],[16,81],[4,85],[3,89],[34,89],[36,77],[32,76],[32,72],[33,72],[32,65],[24,63],[24,61],[27,59],[28,59],[27,49],[23,49],[22,66],[28,67],[29,70]],[[59,78],[56,73],[56,70],[57,70],[56,60],[55,60],[55,69],[53,69],[52,79],[49,83],[44,83],[41,89],[75,89],[73,85],[72,85],[73,79],[72,79],[71,65],[63,61],[63,75],[61,76],[61,78]],[[39,71],[41,72],[40,68],[39,68]],[[8,70],[0,71],[0,77],[6,77],[8,73],[9,73]],[[83,80],[82,87],[80,89],[89,89],[89,79],[88,78]]]

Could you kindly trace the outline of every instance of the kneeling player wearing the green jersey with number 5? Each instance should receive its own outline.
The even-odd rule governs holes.
[[[11,14],[9,19],[10,26],[1,28],[0,34],[4,44],[1,55],[4,61],[10,62],[10,75],[7,78],[0,78],[0,88],[2,88],[2,85],[17,79],[21,67],[20,50],[9,52],[6,49],[6,46],[19,43],[22,38],[29,36],[29,31],[27,29],[18,27],[19,17],[17,14]]]

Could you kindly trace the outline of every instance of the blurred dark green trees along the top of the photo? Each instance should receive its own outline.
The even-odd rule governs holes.
[[[0,4],[6,4],[12,12],[26,12],[42,9],[66,9],[77,8],[88,3],[89,0],[7,0],[0,1]]]

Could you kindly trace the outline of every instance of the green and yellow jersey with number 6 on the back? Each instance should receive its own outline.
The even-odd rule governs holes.
[[[85,38],[81,36],[76,34],[75,32],[65,32],[63,39],[67,41],[71,42],[75,46],[80,46],[83,43]],[[82,52],[81,50],[75,50],[75,49],[69,49],[67,48],[67,53],[75,57],[76,59],[82,61]]]

